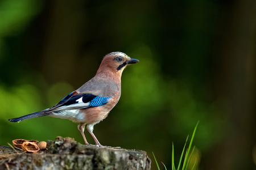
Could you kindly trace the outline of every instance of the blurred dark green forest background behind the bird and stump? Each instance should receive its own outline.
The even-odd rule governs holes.
[[[254,0],[2,0],[0,145],[57,135],[84,143],[69,120],[7,119],[52,107],[92,78],[105,54],[121,51],[140,62],[124,71],[119,103],[94,126],[102,145],[151,160],[154,151],[171,169],[172,142],[178,162],[200,120],[198,169],[256,169],[255,33]]]

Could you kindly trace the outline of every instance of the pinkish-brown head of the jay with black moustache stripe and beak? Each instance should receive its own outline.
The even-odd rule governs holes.
[[[104,70],[109,70],[112,71],[112,73],[118,73],[122,75],[122,71],[127,65],[137,62],[139,62],[138,59],[130,58],[122,52],[109,53],[102,59],[101,65],[97,73],[100,73]]]

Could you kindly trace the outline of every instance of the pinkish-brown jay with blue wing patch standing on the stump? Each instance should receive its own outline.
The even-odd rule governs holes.
[[[10,122],[20,122],[35,117],[51,116],[79,123],[85,145],[90,145],[84,135],[85,126],[92,135],[96,146],[102,146],[93,134],[94,125],[104,120],[118,103],[121,96],[121,76],[127,65],[139,62],[122,52],[106,54],[96,75],[77,90],[65,96],[59,103],[43,111],[11,118]]]

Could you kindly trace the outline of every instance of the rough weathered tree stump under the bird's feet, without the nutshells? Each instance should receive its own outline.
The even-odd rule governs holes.
[[[0,146],[0,169],[150,169],[145,151],[85,146],[72,138],[47,141],[37,154]]]

